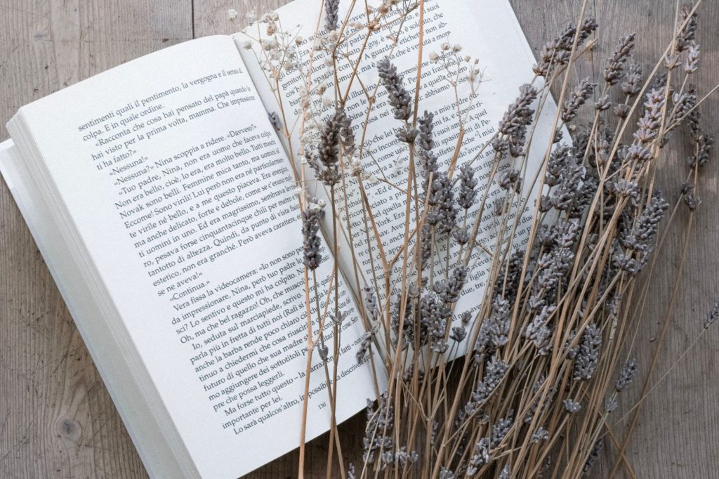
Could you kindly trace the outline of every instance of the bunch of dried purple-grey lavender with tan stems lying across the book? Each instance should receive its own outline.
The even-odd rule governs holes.
[[[412,2],[387,0],[366,21],[340,24],[339,2],[323,3],[326,32],[313,51],[331,70],[345,55],[351,82],[352,70],[366,70],[359,60],[352,64],[351,45],[387,26],[373,18],[411,18]],[[302,171],[310,177],[303,176],[303,188],[319,180],[318,188],[331,192],[331,225],[342,226],[354,255],[357,277],[349,283],[365,285],[357,294],[367,332],[352,345],[354,360],[388,378],[368,402],[364,454],[353,457],[361,467],[350,467],[348,477],[577,478],[603,454],[605,426],[613,424],[607,416],[639,375],[635,360],[619,359],[633,356],[626,338],[641,321],[636,278],[654,268],[661,233],[684,211],[677,205],[700,206],[697,173],[713,155],[713,136],[700,125],[700,88],[692,84],[702,66],[697,17],[690,7],[680,12],[675,49],[659,67],[634,57],[641,37],[621,37],[597,78],[562,92],[559,129],[538,132],[551,88],[574,78],[567,67],[582,60],[597,31],[591,17],[569,25],[544,45],[536,78],[519,88],[476,155],[464,155],[462,134],[471,129],[467,104],[481,96],[481,72],[459,45],[447,42],[429,55],[457,93],[449,120],[444,111],[423,111],[423,91],[415,104],[389,58],[376,65],[386,105],[376,103],[372,85],[362,85],[367,104],[358,95],[358,108],[345,96],[351,88],[334,85],[339,70],[319,86],[305,83],[298,151],[313,171]],[[399,35],[385,38],[400,45]],[[582,111],[587,104],[594,109]],[[383,107],[382,115],[399,123],[380,150],[365,133]],[[358,119],[357,137],[349,114]],[[583,124],[589,115],[594,119]],[[655,173],[674,145],[669,133],[674,140],[687,129],[691,171],[667,215],[673,197],[665,199]],[[541,144],[546,137],[554,142]],[[376,159],[390,153],[391,171]],[[375,194],[377,184],[383,193]],[[393,209],[395,201],[401,208]],[[354,207],[359,214],[349,212]],[[319,219],[311,211],[303,212],[303,262],[315,271]],[[406,228],[385,233],[390,218]],[[334,309],[336,290],[308,288]],[[327,311],[324,319],[343,329],[344,317]],[[325,365],[334,362],[335,351],[317,348]]]

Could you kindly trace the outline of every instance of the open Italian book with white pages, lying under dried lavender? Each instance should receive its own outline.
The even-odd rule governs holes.
[[[311,47],[320,4],[296,0],[278,10],[286,27],[300,25],[300,48]],[[362,19],[365,2],[357,5],[350,16]],[[459,43],[486,69],[464,158],[528,81],[533,55],[506,0],[425,5],[424,51]],[[408,88],[417,18],[393,51]],[[5,181],[152,477],[236,478],[300,440],[307,323],[288,152],[297,139],[281,142],[268,120],[277,97],[246,40],[238,33],[168,47],[23,106],[0,151]],[[387,55],[385,42],[372,39],[365,65]],[[375,68],[361,78],[376,83]],[[288,115],[301,114],[290,80],[281,97]],[[421,109],[434,112],[438,144],[450,152],[457,139],[442,124],[456,114],[445,80],[428,61]],[[401,173],[387,134],[396,126],[388,116],[368,127],[377,175]],[[380,228],[401,229],[393,213],[403,211],[403,197],[388,189],[382,202]],[[369,270],[353,270],[347,247],[339,251],[348,313],[348,354],[338,362],[343,421],[382,385],[354,360],[364,332],[357,285]],[[321,268],[319,277],[329,277],[331,260]],[[480,262],[467,287],[479,294],[482,285]],[[329,429],[321,368],[313,368],[309,396],[307,439]]]

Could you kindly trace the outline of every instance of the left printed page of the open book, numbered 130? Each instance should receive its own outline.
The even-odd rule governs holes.
[[[169,47],[19,117],[52,180],[46,200],[57,193],[198,473],[236,478],[297,447],[307,319],[295,184],[232,40]],[[349,348],[362,331],[338,280]],[[314,366],[307,439],[329,429]],[[374,388],[354,358],[339,377],[342,421]]]

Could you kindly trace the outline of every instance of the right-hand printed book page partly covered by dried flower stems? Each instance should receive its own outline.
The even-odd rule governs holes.
[[[340,103],[337,99],[344,97],[344,109],[347,117],[352,119],[359,161],[344,158],[344,177],[336,187],[342,218],[338,257],[356,295],[362,296],[360,290],[371,285],[384,296],[382,301],[387,299],[383,265],[391,264],[390,300],[393,301],[401,288],[398,278],[401,278],[403,259],[408,257],[411,268],[414,256],[411,252],[405,255],[403,246],[407,238],[409,245],[416,238],[413,230],[415,202],[411,201],[411,209],[407,210],[408,144],[397,138],[404,122],[395,118],[393,107],[388,104],[388,93],[380,81],[377,65],[385,58],[393,63],[413,107],[420,43],[418,2],[340,1],[337,17],[341,32],[338,29],[334,33],[326,27],[326,12],[321,3],[293,1],[260,17],[243,32],[234,35],[234,39],[267,110],[277,115],[278,126],[285,134],[289,133],[290,157],[296,160],[298,169],[305,163],[310,177],[312,170],[306,165],[306,155],[317,155],[318,137],[324,122]],[[354,9],[348,12],[350,5]],[[490,188],[482,228],[477,236],[478,246],[468,263],[469,277],[455,308],[460,314],[476,311],[480,306],[491,254],[497,247],[498,231],[502,227],[499,216],[492,221],[495,198],[505,194],[497,184],[500,174],[495,175],[490,186],[487,185],[495,163],[491,142],[503,114],[519,96],[521,86],[533,82],[533,86],[541,88],[541,81],[533,78],[535,58],[508,1],[425,0],[423,6],[423,61],[417,110],[419,117],[423,117],[425,111],[434,116],[431,122],[432,153],[437,158],[438,170],[453,170],[454,178],[457,178],[459,167],[471,162],[479,191],[477,201],[467,215],[470,219],[476,216],[479,199],[487,187]],[[345,19],[349,21],[342,27]],[[367,25],[375,21],[383,27],[367,35]],[[346,40],[336,48],[333,60],[328,53],[331,47],[328,49],[326,45],[336,44],[338,35]],[[358,62],[360,55],[362,60]],[[461,68],[459,74],[456,74],[457,60]],[[467,81],[470,70],[477,70],[474,86]],[[339,88],[335,88],[336,85]],[[376,101],[367,116],[370,98]],[[549,96],[525,163],[521,158],[506,158],[498,165],[500,172],[510,168],[521,170],[525,179],[523,197],[531,195],[532,198],[518,220],[514,236],[516,245],[521,245],[528,236],[531,224],[528,220],[536,193],[531,191],[530,185],[549,146],[549,132],[556,111]],[[412,117],[413,113],[409,122]],[[462,147],[457,150],[460,120],[464,136]],[[568,139],[564,133],[564,138]],[[302,134],[303,142],[300,141]],[[416,148],[418,150],[420,146]],[[416,152],[417,175],[421,181],[424,172],[418,156]],[[362,193],[353,177],[358,168],[361,168],[371,219],[368,209],[362,207]],[[308,178],[306,186],[309,193],[329,201],[327,188],[320,181]],[[417,191],[422,194],[423,188]],[[419,198],[418,204],[423,204],[425,199],[426,195]],[[511,212],[505,219],[509,218],[510,227],[521,209],[518,205],[515,200],[508,206]],[[349,214],[344,213],[345,208]],[[412,217],[408,230],[407,211]],[[464,211],[459,211],[458,227],[462,227],[463,215]],[[331,232],[329,217],[326,215],[326,233]],[[467,227],[471,232],[472,221],[469,219]],[[327,236],[331,240],[331,234]],[[377,247],[377,237],[381,238],[383,251]],[[434,255],[439,271],[451,269],[446,268],[443,242],[439,242],[439,253]],[[456,258],[457,249],[450,255]],[[463,349],[459,347],[454,354]]]

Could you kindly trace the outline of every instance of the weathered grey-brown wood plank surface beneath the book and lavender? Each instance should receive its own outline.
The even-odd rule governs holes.
[[[259,14],[283,3],[0,0],[0,138],[7,137],[4,124],[22,104],[162,47],[234,32],[253,9]],[[511,3],[536,51],[576,17],[581,1]],[[602,25],[600,43],[592,53],[595,72],[600,71],[599,65],[615,40],[626,32],[638,32],[639,60],[653,62],[669,39],[674,4],[674,0],[590,1],[591,11]],[[237,9],[237,19],[228,19],[229,8]],[[705,0],[701,12],[704,56],[696,83],[706,91],[719,83],[715,29],[719,2]],[[702,107],[707,124],[713,127],[719,124],[718,106],[719,97],[714,96]],[[686,172],[687,151],[679,153],[659,174],[659,183],[674,198]],[[690,256],[655,379],[690,347],[719,292],[716,165],[714,159],[702,173],[704,204],[697,214]],[[679,224],[686,220],[679,219]],[[683,230],[676,231],[661,253],[645,326],[638,334],[636,354],[642,373],[659,335],[681,255]],[[0,186],[0,337],[0,477],[147,477],[4,183]],[[719,329],[704,334],[646,401],[627,452],[638,478],[719,478],[718,339]],[[617,417],[621,414],[618,411]],[[342,434],[354,437],[358,444],[361,427],[359,419],[352,419],[342,426]],[[311,470],[324,468],[325,453],[326,440],[312,444],[308,452]],[[296,453],[292,453],[252,477],[295,477],[295,465]],[[318,473],[317,477],[324,475]]]

